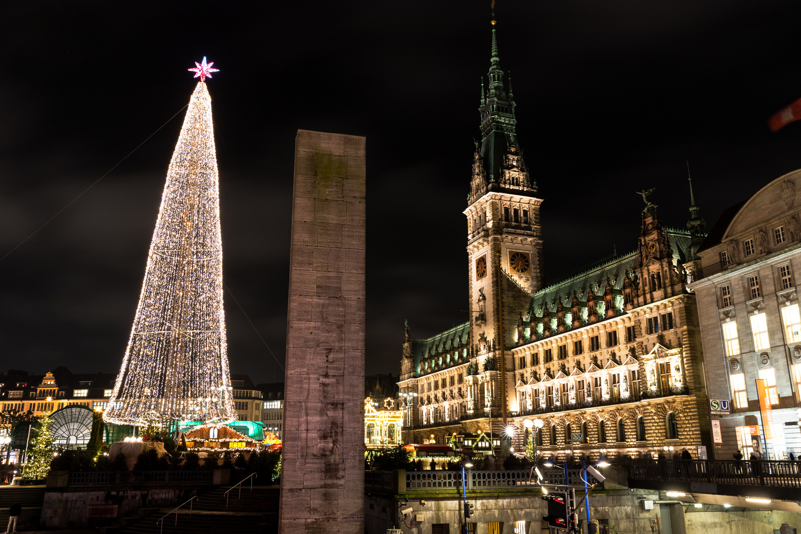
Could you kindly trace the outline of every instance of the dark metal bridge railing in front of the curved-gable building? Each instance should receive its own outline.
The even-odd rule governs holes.
[[[631,460],[632,480],[801,488],[801,462],[788,460]]]

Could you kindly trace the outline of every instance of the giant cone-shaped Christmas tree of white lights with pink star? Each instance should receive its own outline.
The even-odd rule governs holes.
[[[234,420],[223,314],[219,177],[205,78],[192,93],[167,171],[131,338],[103,419],[167,425]]]

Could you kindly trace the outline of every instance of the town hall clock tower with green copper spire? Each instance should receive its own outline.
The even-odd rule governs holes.
[[[503,301],[509,299],[509,305],[518,304],[512,301],[532,295],[542,285],[542,201],[537,198],[537,182],[529,175],[517,142],[512,86],[509,79],[504,81],[495,25],[493,21],[486,94],[484,82],[481,83],[481,144],[476,144],[468,207],[464,211],[470,337],[478,354],[501,350],[501,315],[505,339],[502,345],[517,344],[520,318],[511,312],[512,307],[506,314],[502,308],[507,303]]]

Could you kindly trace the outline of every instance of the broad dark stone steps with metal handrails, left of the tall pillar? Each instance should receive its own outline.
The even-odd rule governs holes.
[[[246,483],[247,484],[247,483]],[[204,534],[208,532],[237,532],[274,534],[278,532],[278,500],[280,490],[274,487],[254,487],[249,485],[235,488],[226,497],[227,487],[215,488],[203,493],[199,500],[192,502],[191,516],[189,506],[159,520],[170,508],[143,508],[138,516],[123,517],[119,528],[104,528],[105,532],[124,534],[155,534],[159,532],[187,532]]]

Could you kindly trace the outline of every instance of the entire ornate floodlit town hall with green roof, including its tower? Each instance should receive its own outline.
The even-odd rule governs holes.
[[[689,231],[669,230],[643,191],[636,251],[543,288],[542,201],[519,151],[494,29],[490,62],[464,211],[471,318],[429,339],[413,339],[407,324],[398,383],[407,441],[484,432],[497,447],[511,426],[522,448],[523,420],[538,418],[537,448],[553,456],[710,447],[686,287],[706,224],[694,199]]]

